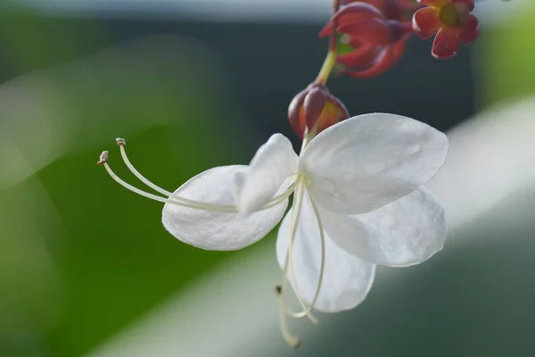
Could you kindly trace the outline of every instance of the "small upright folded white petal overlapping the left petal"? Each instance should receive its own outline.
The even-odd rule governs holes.
[[[297,172],[297,154],[282,134],[269,137],[252,161],[235,175],[235,203],[249,214],[268,203],[291,173]]]

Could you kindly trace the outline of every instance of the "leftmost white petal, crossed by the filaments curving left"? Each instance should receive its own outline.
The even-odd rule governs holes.
[[[206,170],[175,191],[177,195],[203,203],[233,204],[235,173],[242,165]],[[171,203],[163,207],[162,222],[170,234],[188,245],[218,251],[232,251],[251,245],[283,218],[288,200],[248,216],[242,213],[209,212]]]

